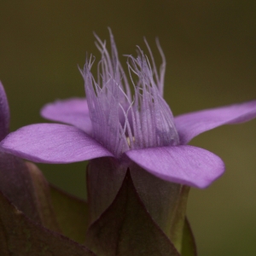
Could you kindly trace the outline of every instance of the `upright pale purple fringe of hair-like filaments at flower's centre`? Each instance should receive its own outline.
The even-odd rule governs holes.
[[[137,58],[128,56],[129,79],[134,90],[131,96],[113,35],[110,33],[111,55],[106,44],[96,39],[96,46],[102,53],[102,60],[97,65],[97,79],[90,72],[94,62],[91,55],[81,71],[96,140],[116,157],[129,149],[177,145],[179,138],[172,111],[162,97],[165,59],[159,44],[163,58],[160,74],[149,47],[152,67],[139,48]]]

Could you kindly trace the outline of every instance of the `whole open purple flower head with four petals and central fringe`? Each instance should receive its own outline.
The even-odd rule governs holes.
[[[42,110],[45,118],[68,125],[27,125],[10,133],[2,147],[21,158],[43,163],[113,157],[127,166],[135,162],[166,181],[206,188],[223,174],[224,163],[206,149],[186,144],[219,125],[255,118],[256,101],[173,118],[162,96],[166,61],[160,45],[157,43],[163,62],[159,72],[146,43],[150,61],[137,48],[136,58],[127,56],[126,75],[112,34],[110,38],[111,53],[96,37],[102,54],[96,66],[97,77],[91,73],[95,61],[91,55],[81,70],[86,100],[57,101]]]

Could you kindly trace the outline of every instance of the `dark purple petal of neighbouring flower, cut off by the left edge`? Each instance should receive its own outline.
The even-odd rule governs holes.
[[[0,141],[9,134],[9,104],[0,81]]]

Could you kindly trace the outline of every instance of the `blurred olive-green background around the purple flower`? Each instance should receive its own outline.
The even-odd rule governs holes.
[[[119,54],[159,37],[166,54],[166,101],[173,113],[256,98],[255,1],[0,1],[0,79],[11,130],[44,121],[39,109],[84,96],[79,74],[95,38],[112,28]],[[125,62],[125,57],[122,58]],[[156,58],[159,60],[158,58]],[[199,255],[256,255],[256,120],[227,125],[191,144],[218,154],[223,177],[192,189],[188,215]],[[50,182],[85,196],[86,163],[39,165]]]

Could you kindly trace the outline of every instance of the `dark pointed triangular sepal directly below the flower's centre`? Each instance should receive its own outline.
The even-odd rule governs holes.
[[[128,171],[119,193],[91,224],[85,244],[99,256],[179,256],[146,211]]]

